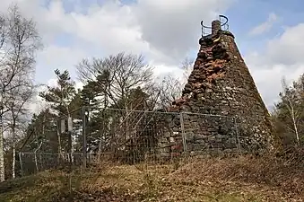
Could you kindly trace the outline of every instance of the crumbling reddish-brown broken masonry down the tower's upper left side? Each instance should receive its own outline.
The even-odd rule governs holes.
[[[192,104],[189,101],[195,101],[197,97],[204,99],[204,92],[213,92],[216,88],[216,80],[225,75],[225,64],[229,60],[230,56],[221,43],[221,35],[201,40],[201,48],[195,60],[194,70],[189,75],[182,98],[173,101],[169,110],[186,110],[186,106],[190,107],[187,110],[191,110]]]

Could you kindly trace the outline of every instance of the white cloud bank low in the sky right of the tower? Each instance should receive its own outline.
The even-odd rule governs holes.
[[[264,52],[245,57],[266,105],[270,108],[282,90],[282,77],[288,83],[304,74],[304,24],[288,27],[280,37],[269,40]]]

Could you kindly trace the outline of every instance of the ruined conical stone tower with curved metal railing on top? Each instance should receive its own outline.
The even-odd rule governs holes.
[[[167,119],[169,127],[159,140],[161,156],[257,152],[272,146],[268,110],[234,35],[222,28],[221,21],[213,21],[212,33],[199,40],[182,97],[169,108],[178,113]]]

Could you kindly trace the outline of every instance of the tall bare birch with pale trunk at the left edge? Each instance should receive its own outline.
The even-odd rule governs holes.
[[[0,116],[6,120],[4,127],[12,130],[13,155],[17,126],[34,92],[35,54],[41,47],[35,22],[22,17],[17,4],[12,4],[8,13],[0,16],[0,103],[4,106]],[[0,180],[4,180],[2,131],[0,135]],[[14,163],[13,158],[13,168]]]

